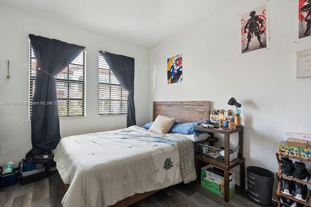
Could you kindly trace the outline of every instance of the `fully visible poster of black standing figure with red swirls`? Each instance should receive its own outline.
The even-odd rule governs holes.
[[[239,14],[241,53],[269,48],[268,1]]]

